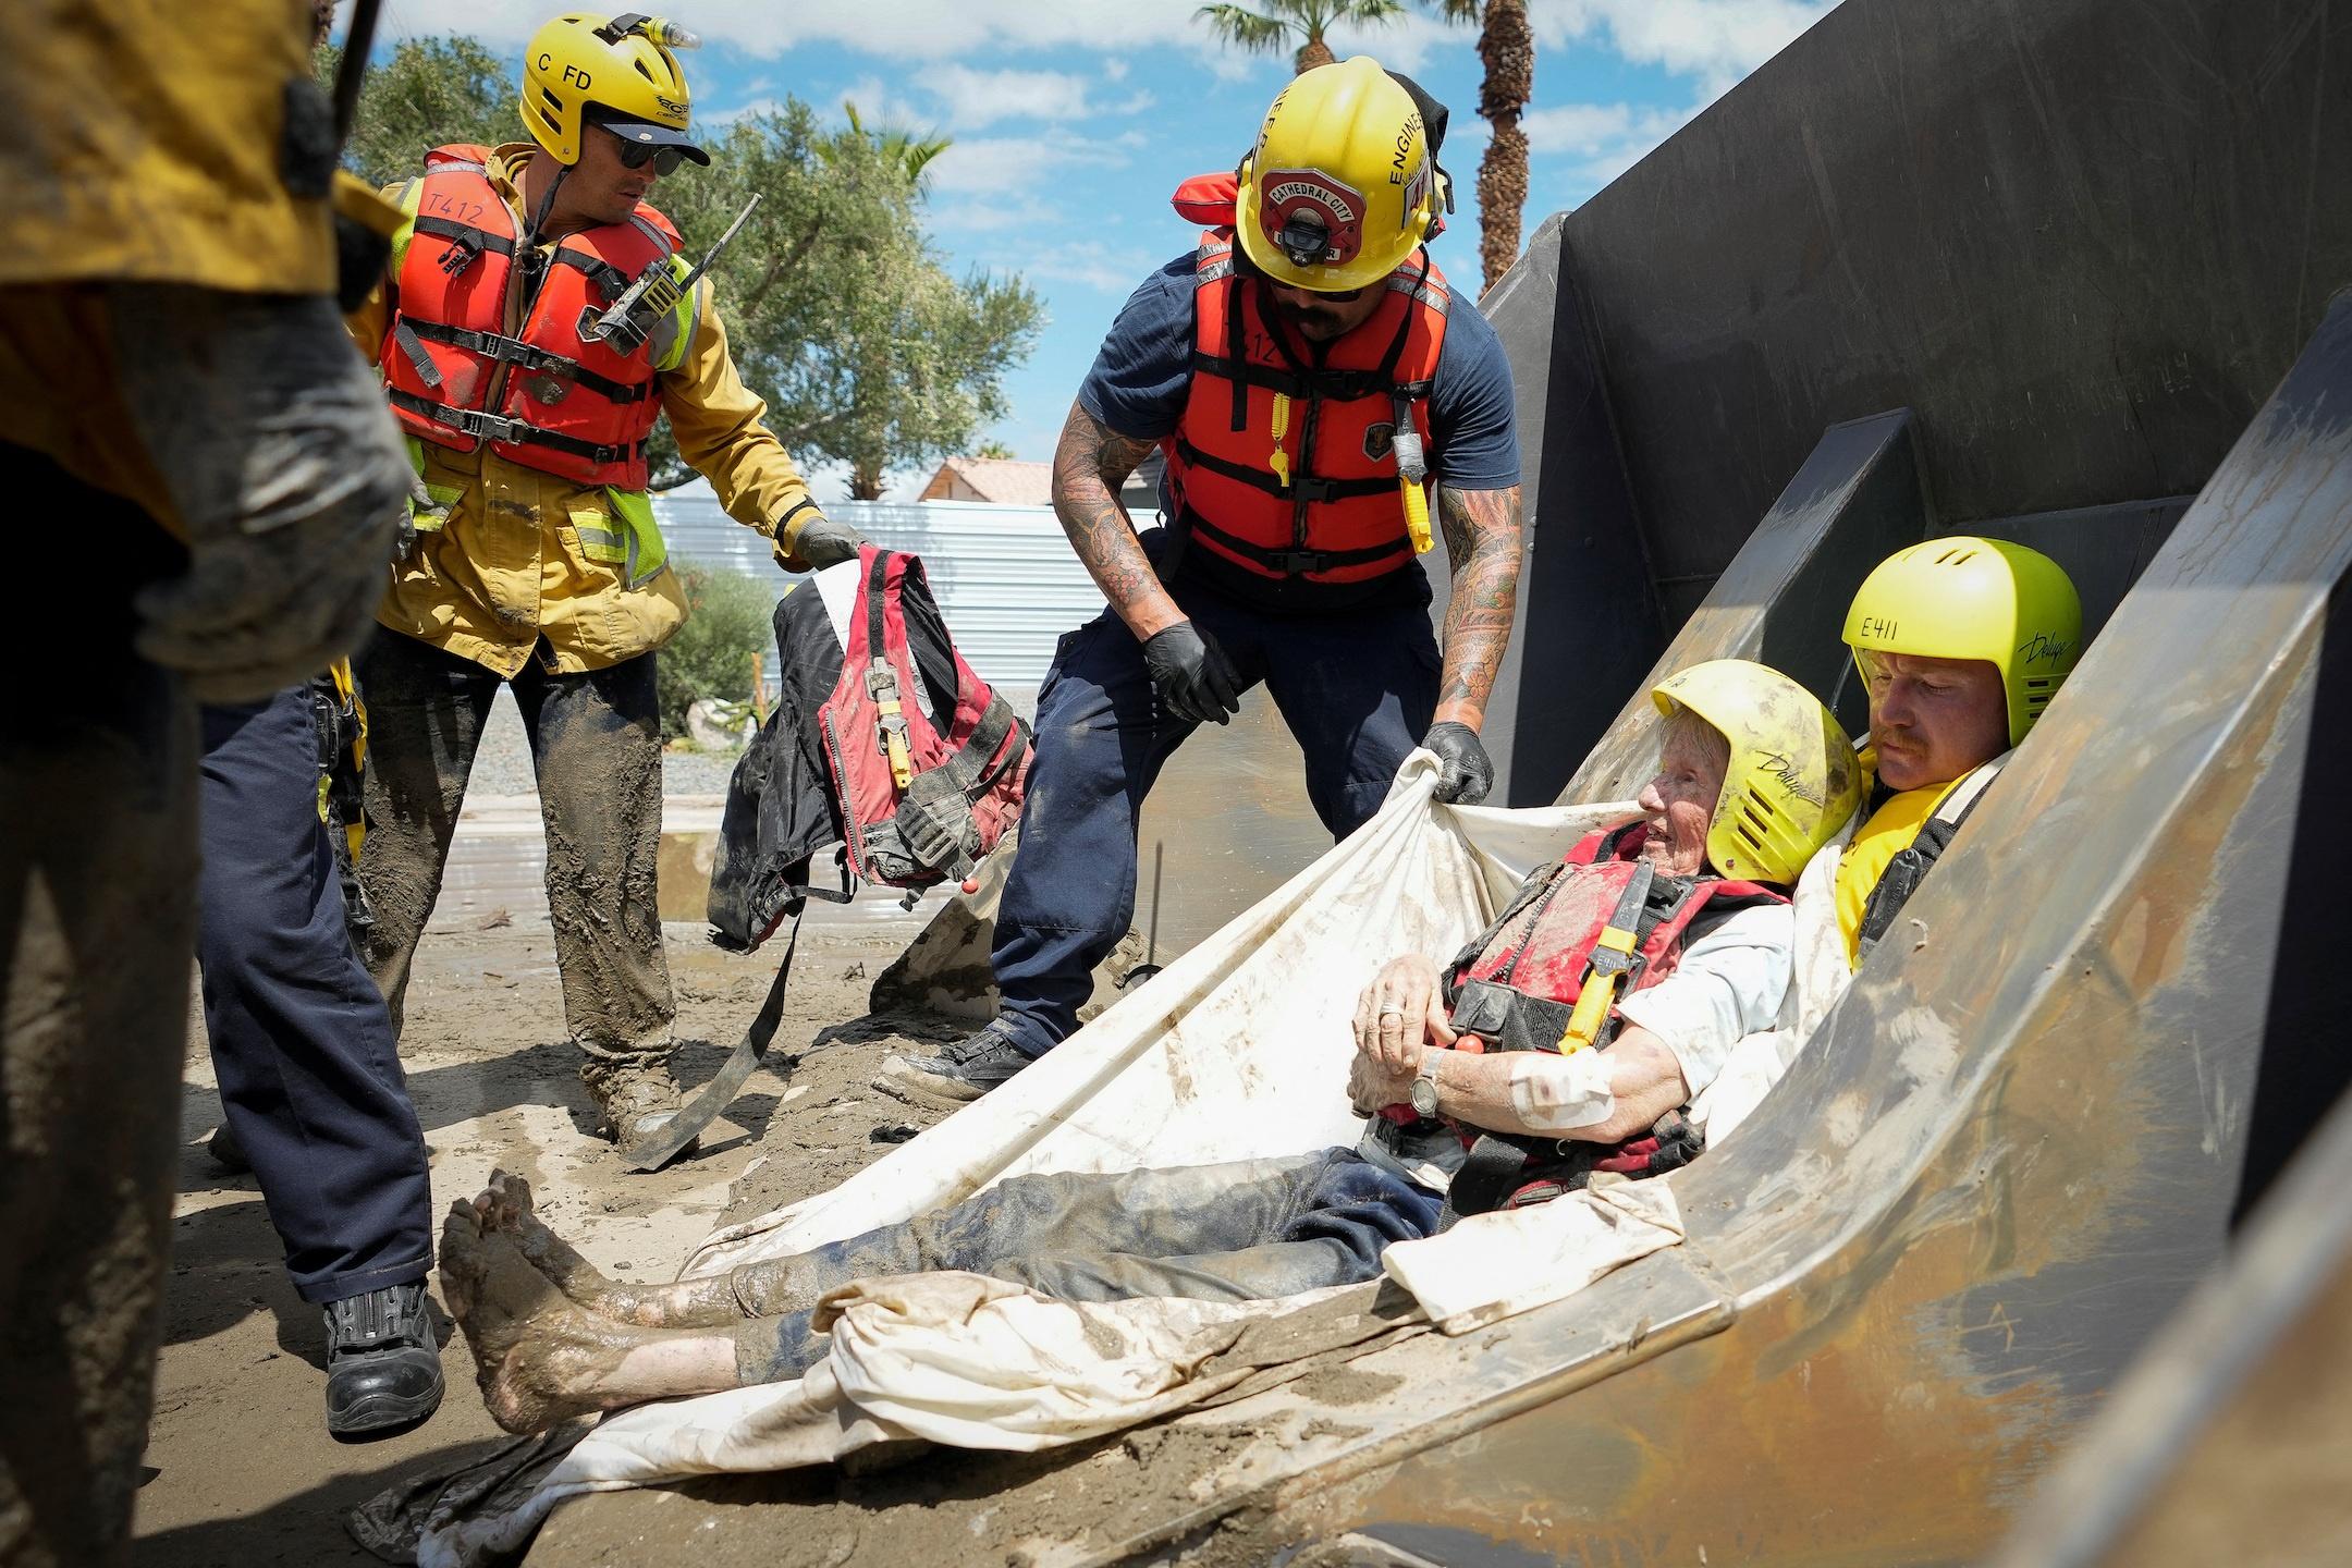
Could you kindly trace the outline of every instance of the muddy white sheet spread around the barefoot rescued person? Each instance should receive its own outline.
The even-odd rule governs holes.
[[[1531,865],[1635,816],[1630,804],[1439,806],[1435,776],[1435,759],[1416,752],[1371,823],[1134,997],[833,1192],[717,1232],[680,1276],[854,1237],[1028,1171],[1352,1145],[1362,1121],[1343,1084],[1364,983],[1397,952],[1456,952]],[[1792,1025],[1813,1023],[1844,985],[1832,865],[1835,853],[1820,856],[1799,886],[1799,980],[1783,1030],[1743,1041],[1722,1091],[1693,1107],[1715,1143],[1795,1056]],[[1679,1239],[1670,1182],[1621,1182],[1465,1220],[1390,1248],[1385,1262],[1432,1324],[1461,1333]],[[913,1436],[1023,1450],[1082,1441],[1211,1396],[1232,1375],[1204,1368],[1247,1324],[1312,1300],[1056,1302],[971,1274],[866,1281],[833,1302],[833,1352],[807,1378],[621,1413],[520,1505],[435,1519],[419,1561],[513,1549],[548,1507],[583,1490],[786,1469]]]

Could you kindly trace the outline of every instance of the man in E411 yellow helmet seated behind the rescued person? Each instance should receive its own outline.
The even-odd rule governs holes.
[[[1837,865],[1837,924],[1860,966],[2074,670],[2082,599],[2039,550],[1931,538],[1863,578],[1846,646],[1870,691],[1877,771],[1872,813]]]

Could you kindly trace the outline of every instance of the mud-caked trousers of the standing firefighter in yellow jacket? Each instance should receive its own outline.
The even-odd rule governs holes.
[[[543,644],[541,644],[541,651]],[[367,969],[400,1030],[409,964],[440,898],[449,837],[499,677],[379,628],[355,661],[367,703],[367,844],[360,886],[376,912]],[[661,952],[661,712],[654,654],[586,675],[539,658],[515,677],[548,832],[548,917],[564,1025],[597,1084],[670,1053],[670,964]]]

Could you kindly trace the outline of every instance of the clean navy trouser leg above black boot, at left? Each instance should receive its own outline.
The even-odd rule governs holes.
[[[221,1110],[308,1302],[433,1265],[426,1140],[383,994],[343,931],[310,689],[202,712],[195,957]]]

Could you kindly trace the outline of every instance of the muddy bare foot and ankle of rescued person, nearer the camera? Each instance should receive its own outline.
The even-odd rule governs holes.
[[[574,1305],[473,1204],[452,1204],[440,1248],[442,1300],[466,1331],[482,1403],[508,1432],[647,1399],[736,1387],[724,1333],[635,1328]]]

